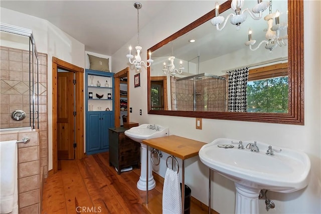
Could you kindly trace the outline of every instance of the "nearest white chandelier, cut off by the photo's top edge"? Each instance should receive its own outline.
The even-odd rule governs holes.
[[[225,25],[228,19],[231,17],[230,23],[236,25],[236,29],[240,29],[240,25],[246,20],[245,12],[249,13],[252,19],[259,20],[262,18],[262,13],[269,7],[269,2],[262,2],[262,0],[257,1],[258,4],[255,5],[252,10],[246,8],[242,10],[244,5],[244,0],[232,0],[231,9],[235,14],[230,14],[226,18],[219,16],[219,4],[215,3],[215,17],[211,20],[212,25],[216,26],[218,31],[222,31],[225,28]],[[255,16],[255,15],[258,16]],[[223,24],[222,24],[223,23]],[[221,28],[220,28],[221,26]]]

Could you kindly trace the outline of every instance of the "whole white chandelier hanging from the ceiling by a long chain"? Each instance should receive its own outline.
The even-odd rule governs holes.
[[[147,60],[147,65],[145,64],[144,61],[141,61],[141,57],[140,57],[140,51],[141,51],[141,46],[139,46],[139,12],[138,10],[141,9],[142,4],[139,2],[134,3],[134,8],[137,9],[137,41],[138,41],[138,45],[135,47],[136,49],[136,56],[135,59],[133,61],[131,61],[131,59],[134,58],[133,55],[131,55],[131,46],[129,46],[129,53],[126,55],[126,57],[129,60],[129,63],[131,65],[135,66],[135,69],[137,70],[137,72],[139,72],[139,70],[141,69],[141,66],[144,65],[145,67],[150,67],[151,63],[153,62],[153,60],[151,59],[151,52],[149,51],[148,55],[149,58]]]

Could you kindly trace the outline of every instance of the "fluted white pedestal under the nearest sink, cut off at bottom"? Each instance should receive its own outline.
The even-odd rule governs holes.
[[[259,193],[261,189],[250,188],[235,183],[235,213],[259,213]]]

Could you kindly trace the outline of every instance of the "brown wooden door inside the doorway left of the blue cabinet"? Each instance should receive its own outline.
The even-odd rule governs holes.
[[[58,72],[58,160],[75,159],[73,79],[73,72]]]

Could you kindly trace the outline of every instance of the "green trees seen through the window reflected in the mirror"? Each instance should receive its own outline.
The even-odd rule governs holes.
[[[247,111],[288,111],[288,77],[276,77],[247,83]]]

